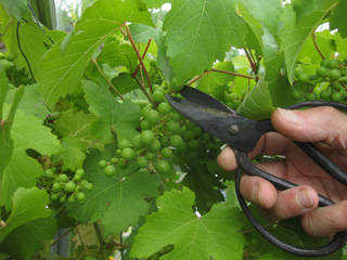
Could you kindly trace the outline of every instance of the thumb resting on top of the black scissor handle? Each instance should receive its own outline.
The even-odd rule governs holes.
[[[305,110],[278,108],[271,115],[273,128],[298,142],[321,142],[347,150],[347,115],[330,106]]]

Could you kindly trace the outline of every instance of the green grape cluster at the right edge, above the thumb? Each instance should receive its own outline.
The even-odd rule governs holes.
[[[295,78],[296,82],[291,90],[291,96],[294,101],[343,102],[347,96],[345,89],[345,83],[347,83],[347,57],[344,61],[323,60],[316,74],[312,75],[298,69],[295,73]]]

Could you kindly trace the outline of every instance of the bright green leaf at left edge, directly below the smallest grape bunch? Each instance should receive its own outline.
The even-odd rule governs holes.
[[[7,220],[5,229],[0,230],[0,243],[11,231],[33,220],[47,218],[51,210],[47,208],[49,196],[38,187],[20,187],[13,194],[12,212]]]

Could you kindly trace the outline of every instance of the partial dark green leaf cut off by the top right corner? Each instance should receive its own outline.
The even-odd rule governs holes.
[[[347,37],[346,21],[347,2],[339,0],[336,8],[333,10],[333,15],[330,17],[330,29],[338,29],[342,37]]]

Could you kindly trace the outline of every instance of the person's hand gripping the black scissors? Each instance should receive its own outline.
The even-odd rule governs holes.
[[[279,133],[265,134],[249,157],[284,155],[286,159],[258,164],[257,167],[299,186],[279,192],[267,180],[244,174],[241,179],[242,196],[260,206],[259,212],[267,219],[301,216],[303,229],[311,236],[330,236],[347,230],[347,186],[325,173],[288,140],[314,143],[347,172],[347,115],[332,107],[279,108],[272,114],[271,122]],[[218,156],[218,164],[226,170],[237,167],[229,146]],[[317,208],[318,193],[335,205]]]

